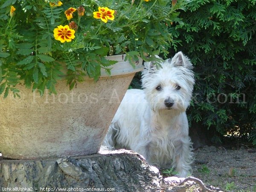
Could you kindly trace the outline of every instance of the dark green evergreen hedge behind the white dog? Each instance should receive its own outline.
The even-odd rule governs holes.
[[[189,122],[256,144],[256,1],[193,0],[169,29],[195,68]]]

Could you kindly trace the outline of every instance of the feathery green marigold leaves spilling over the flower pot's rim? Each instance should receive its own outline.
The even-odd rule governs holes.
[[[97,81],[102,68],[110,75],[116,63],[106,55],[126,54],[132,65],[138,57],[156,59],[144,55],[167,55],[174,42],[169,23],[178,21],[177,10],[184,9],[184,1],[172,6],[171,0],[61,0],[61,6],[52,7],[49,3],[58,0],[0,0],[0,94],[18,96],[19,83],[41,94],[46,88],[56,93],[61,75],[70,89],[86,75]],[[79,6],[84,15],[79,17],[76,11],[67,20],[64,12]],[[115,10],[115,19],[104,23],[93,18],[99,6]],[[56,41],[53,30],[70,21],[77,24],[75,38]]]

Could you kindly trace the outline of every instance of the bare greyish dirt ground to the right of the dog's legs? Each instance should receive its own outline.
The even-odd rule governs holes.
[[[192,176],[234,192],[256,192],[256,148],[206,146],[194,151]]]

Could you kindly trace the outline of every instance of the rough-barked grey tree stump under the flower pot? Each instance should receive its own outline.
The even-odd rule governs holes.
[[[0,191],[185,192],[133,151],[55,160],[0,160]],[[178,181],[177,181],[178,180]],[[178,187],[178,188],[177,188]]]

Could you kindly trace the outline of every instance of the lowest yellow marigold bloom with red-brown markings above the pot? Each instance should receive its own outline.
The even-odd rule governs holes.
[[[68,25],[59,25],[58,28],[53,30],[53,33],[54,38],[61,41],[61,43],[64,43],[65,41],[70,42],[75,38],[75,30],[70,29]]]

